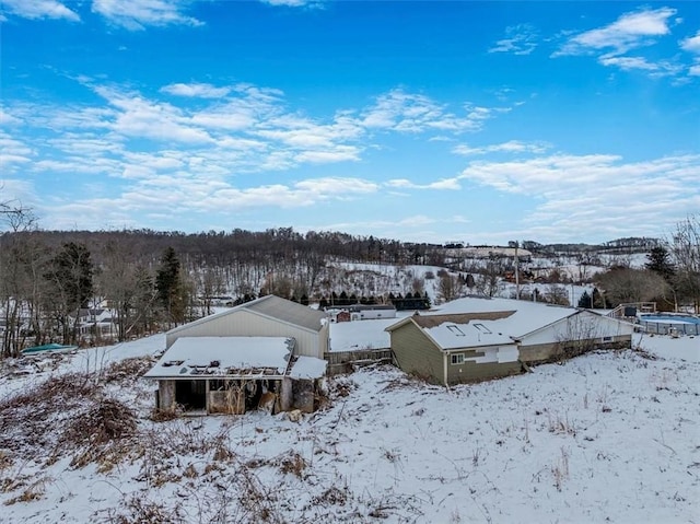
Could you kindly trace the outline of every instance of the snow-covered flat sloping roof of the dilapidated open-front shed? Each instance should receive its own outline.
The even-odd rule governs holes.
[[[180,337],[143,376],[284,375],[295,343],[291,337]]]

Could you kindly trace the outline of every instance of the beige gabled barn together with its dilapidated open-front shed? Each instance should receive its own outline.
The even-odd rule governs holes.
[[[314,410],[325,375],[326,315],[267,295],[165,334],[166,349],[145,373],[161,410],[242,414]]]

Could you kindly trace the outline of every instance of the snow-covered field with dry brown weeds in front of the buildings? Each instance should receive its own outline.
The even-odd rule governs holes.
[[[151,420],[154,385],[110,363],[131,369],[162,335],[52,371],[5,365],[0,522],[699,522],[700,338],[635,342],[451,389],[363,369],[299,422]],[[89,385],[31,399],[85,371]],[[75,426],[107,400],[135,416],[128,431]]]

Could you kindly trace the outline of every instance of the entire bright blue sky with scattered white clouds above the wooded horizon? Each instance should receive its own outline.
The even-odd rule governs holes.
[[[0,0],[0,201],[44,229],[666,236],[696,2]]]

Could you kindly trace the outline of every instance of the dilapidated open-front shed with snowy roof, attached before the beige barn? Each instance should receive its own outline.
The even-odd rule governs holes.
[[[289,337],[180,337],[144,376],[158,381],[156,405],[165,411],[311,412],[326,361],[294,354],[295,343]]]

